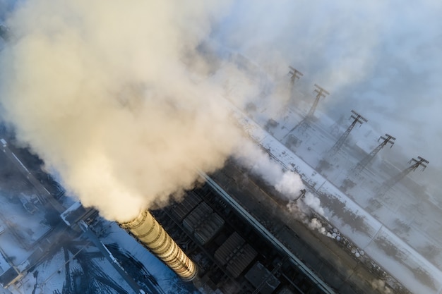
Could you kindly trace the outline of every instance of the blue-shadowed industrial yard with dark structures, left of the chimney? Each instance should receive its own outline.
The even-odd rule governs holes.
[[[1,142],[1,293],[196,291],[115,223],[66,197],[27,150]]]

